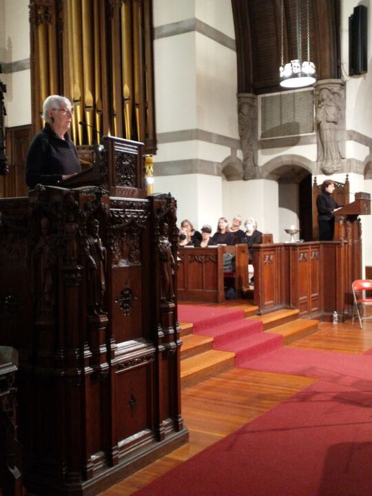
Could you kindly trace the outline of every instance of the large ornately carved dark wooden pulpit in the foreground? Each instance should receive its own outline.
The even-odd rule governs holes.
[[[0,200],[0,343],[19,351],[25,486],[94,495],[187,441],[176,201],[146,197],[143,145]],[[71,188],[73,187],[73,189]]]

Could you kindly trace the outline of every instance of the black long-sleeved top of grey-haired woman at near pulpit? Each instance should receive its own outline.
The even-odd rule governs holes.
[[[47,123],[32,140],[26,158],[25,180],[29,187],[56,185],[62,176],[81,172],[76,147],[68,133],[59,138]]]

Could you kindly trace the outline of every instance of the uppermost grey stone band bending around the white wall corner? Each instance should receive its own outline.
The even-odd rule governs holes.
[[[236,52],[236,41],[234,38],[231,38],[227,36],[227,34],[216,30],[216,28],[212,28],[211,25],[200,21],[200,19],[196,19],[196,17],[193,17],[192,19],[185,19],[185,21],[178,21],[175,23],[157,26],[154,28],[154,40],[178,36],[178,34],[184,34],[187,32],[198,32],[203,34],[207,38],[216,41],[216,43],[219,43],[220,45]]]

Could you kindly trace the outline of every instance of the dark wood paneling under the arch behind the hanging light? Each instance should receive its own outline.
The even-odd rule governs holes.
[[[231,0],[238,59],[238,93],[280,91],[280,0]],[[301,1],[302,12],[306,1]],[[310,58],[319,79],[340,77],[340,0],[309,0]],[[296,0],[284,0],[284,62],[297,59]],[[304,19],[304,18],[303,18]],[[302,23],[302,59],[307,59]]]

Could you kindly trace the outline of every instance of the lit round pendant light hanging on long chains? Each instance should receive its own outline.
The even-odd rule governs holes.
[[[280,61],[280,86],[286,88],[297,88],[312,85],[316,82],[316,68],[310,61],[310,34],[309,34],[309,0],[307,3],[307,60],[302,61],[302,30],[301,30],[301,6],[302,0],[296,0],[296,37],[297,37],[297,59],[290,63],[284,63],[284,0],[280,4],[281,21],[281,61]]]

